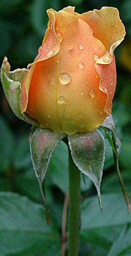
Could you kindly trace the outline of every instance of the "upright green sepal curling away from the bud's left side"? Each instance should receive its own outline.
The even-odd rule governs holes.
[[[4,57],[3,64],[1,66],[1,83],[9,106],[18,118],[27,123],[34,124],[33,120],[30,120],[30,118],[25,117],[24,114],[21,113],[21,84],[27,72],[27,69],[16,69],[14,71],[10,71],[10,65],[7,57]]]

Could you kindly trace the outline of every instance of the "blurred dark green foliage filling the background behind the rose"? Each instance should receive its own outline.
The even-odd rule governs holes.
[[[131,195],[131,0],[3,0],[0,2],[0,58],[8,56],[11,68],[26,67],[37,55],[47,27],[46,9],[74,5],[76,12],[102,6],[117,7],[127,35],[115,51],[118,83],[113,104],[117,133],[122,140],[119,161]],[[0,256],[57,256],[61,250],[64,194],[68,190],[68,152],[61,142],[49,166],[46,199],[51,225],[44,209],[29,153],[30,125],[16,118],[0,89]],[[80,256],[131,255],[131,215],[127,215],[112,150],[106,142],[102,181],[103,212],[98,208],[92,182],[82,178]],[[85,199],[85,200],[84,200]]]

